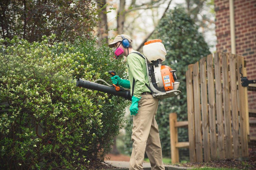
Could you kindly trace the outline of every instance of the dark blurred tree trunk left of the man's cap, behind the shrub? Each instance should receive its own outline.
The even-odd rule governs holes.
[[[102,8],[104,5],[106,5],[106,0],[98,0],[98,10]],[[104,13],[106,11],[106,7],[102,8],[99,17],[100,20],[98,22],[98,27],[99,27],[99,45],[102,44],[102,39],[106,39],[106,43],[108,43],[108,22],[107,22],[107,14]]]

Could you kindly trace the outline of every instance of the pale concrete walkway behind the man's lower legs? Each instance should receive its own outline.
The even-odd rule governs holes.
[[[105,162],[110,163],[113,166],[120,167],[120,170],[129,170],[129,162],[126,162],[126,161],[105,161]],[[171,165],[171,164],[164,164],[164,166],[165,166],[165,170],[189,169],[187,167],[176,166],[176,165]],[[143,169],[151,170],[150,163],[143,163]],[[119,170],[119,169],[115,169],[115,170]]]

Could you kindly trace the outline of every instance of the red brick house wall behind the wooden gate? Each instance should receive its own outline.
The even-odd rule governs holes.
[[[217,52],[231,53],[229,0],[215,0]],[[236,53],[247,61],[248,79],[256,79],[256,0],[234,0]],[[248,91],[249,109],[256,92]]]

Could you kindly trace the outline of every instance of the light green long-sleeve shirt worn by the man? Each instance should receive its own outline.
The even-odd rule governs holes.
[[[137,52],[137,51],[133,51],[133,52]],[[149,85],[145,59],[136,53],[131,53],[127,56],[127,67],[128,67],[127,69],[128,69],[129,81],[131,86],[131,94],[132,94],[133,78],[135,79],[133,95],[136,98],[140,98],[141,93],[143,92],[150,92],[150,90],[145,85],[145,83]]]

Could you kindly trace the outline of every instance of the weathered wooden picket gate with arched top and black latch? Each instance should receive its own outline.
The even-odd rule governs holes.
[[[190,162],[248,157],[248,97],[240,67],[246,76],[246,61],[230,53],[210,54],[188,66]]]

